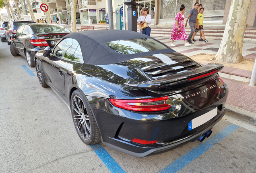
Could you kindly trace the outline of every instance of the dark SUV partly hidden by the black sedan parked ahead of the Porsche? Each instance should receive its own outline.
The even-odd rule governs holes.
[[[17,30],[19,29],[20,26],[24,24],[31,24],[31,23],[36,23],[34,21],[28,21],[28,20],[12,20],[8,22],[7,29],[5,30],[5,38],[7,41],[7,44],[10,45],[11,41],[11,35],[16,34]]]

